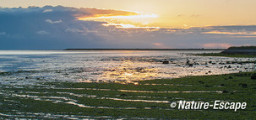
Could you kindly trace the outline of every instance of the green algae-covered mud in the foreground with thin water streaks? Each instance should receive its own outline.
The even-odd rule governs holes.
[[[254,73],[135,81],[138,85],[61,81],[41,86],[0,85],[0,117],[252,119],[256,117],[256,80],[251,79]],[[170,107],[171,102],[180,100],[248,105],[237,112]]]

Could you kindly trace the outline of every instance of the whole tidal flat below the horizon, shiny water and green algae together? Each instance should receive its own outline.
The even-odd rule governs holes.
[[[191,51],[51,52],[2,52],[1,117],[255,117],[255,58],[188,55]],[[248,107],[237,112],[170,107],[180,100],[247,102]]]

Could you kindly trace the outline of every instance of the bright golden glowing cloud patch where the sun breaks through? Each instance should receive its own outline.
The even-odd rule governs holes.
[[[75,18],[84,21],[104,21],[104,26],[116,26],[125,29],[160,29],[160,27],[148,26],[149,18],[157,18],[154,13],[138,13],[113,9],[79,8],[79,14]]]

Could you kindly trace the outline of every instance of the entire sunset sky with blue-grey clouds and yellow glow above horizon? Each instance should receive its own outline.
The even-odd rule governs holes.
[[[256,45],[255,0],[1,0],[0,50]]]

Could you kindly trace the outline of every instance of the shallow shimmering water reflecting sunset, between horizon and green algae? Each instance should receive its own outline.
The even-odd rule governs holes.
[[[1,50],[0,72],[8,72],[8,76],[0,78],[2,84],[23,85],[39,80],[129,83],[255,70],[254,64],[230,64],[230,67],[226,64],[226,61],[253,61],[255,58],[188,55],[212,52],[220,51]],[[162,64],[164,60],[170,64]],[[194,64],[192,67],[186,64],[188,60]]]

